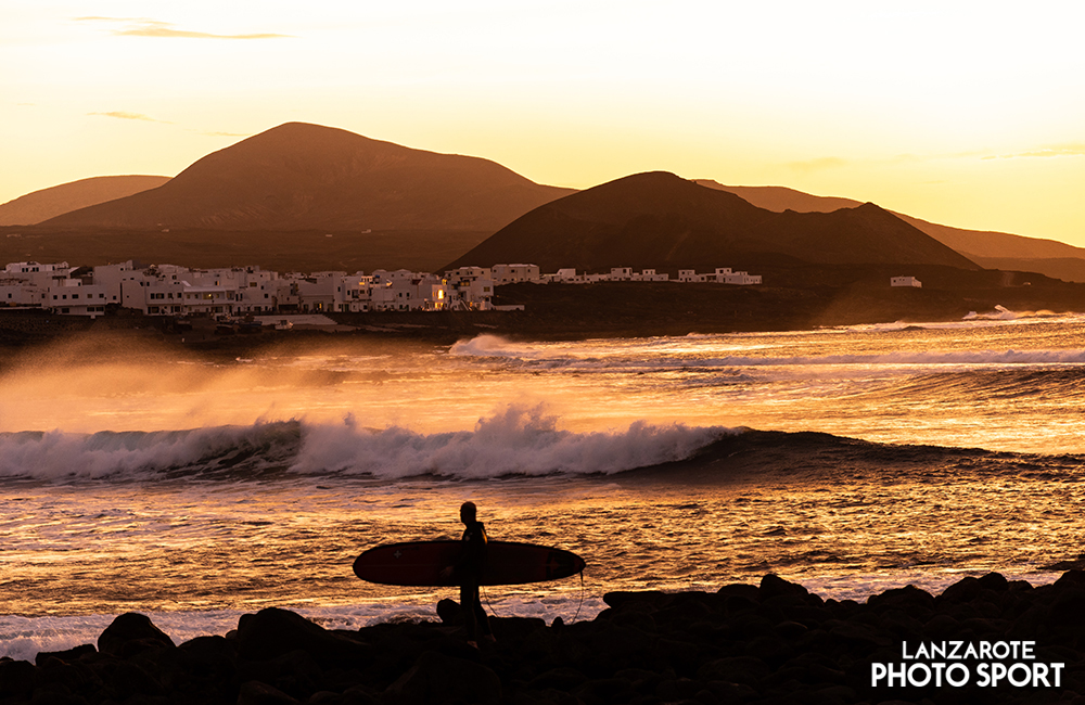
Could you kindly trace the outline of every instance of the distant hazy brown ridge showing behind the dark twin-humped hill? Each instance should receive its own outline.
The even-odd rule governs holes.
[[[832,213],[860,205],[858,201],[851,198],[816,196],[784,187],[728,187],[709,179],[698,179],[697,183],[733,193],[757,207],[777,213],[788,209],[799,213]],[[1085,248],[1055,240],[950,228],[899,213],[896,215],[981,267],[1036,271],[1055,279],[1085,282]]]

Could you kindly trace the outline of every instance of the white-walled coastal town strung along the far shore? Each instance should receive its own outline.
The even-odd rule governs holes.
[[[495,306],[494,287],[513,283],[590,284],[604,281],[714,282],[755,285],[760,275],[730,268],[711,273],[667,272],[630,267],[608,273],[559,269],[541,274],[536,265],[460,267],[443,275],[406,269],[370,273],[285,273],[258,266],[193,269],[177,265],[138,266],[132,260],[98,267],[67,262],[12,262],[0,273],[0,310],[38,309],[97,318],[114,306],[144,316],[248,317],[278,313],[515,310]]]

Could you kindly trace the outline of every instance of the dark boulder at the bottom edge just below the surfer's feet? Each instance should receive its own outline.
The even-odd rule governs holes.
[[[390,705],[430,705],[437,703],[498,703],[501,679],[493,670],[462,658],[433,651],[424,652],[418,663],[384,692]]]

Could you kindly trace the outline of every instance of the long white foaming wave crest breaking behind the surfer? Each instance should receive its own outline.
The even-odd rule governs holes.
[[[611,474],[682,460],[723,435],[723,426],[656,425],[574,433],[544,406],[510,405],[472,431],[424,434],[303,421],[170,432],[0,434],[0,477],[37,479],[246,479],[268,473],[457,479],[507,475]]]

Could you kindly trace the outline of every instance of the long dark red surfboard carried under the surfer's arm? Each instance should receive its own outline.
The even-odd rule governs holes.
[[[381,585],[457,585],[455,578],[443,578],[441,572],[456,563],[462,549],[462,541],[378,546],[355,560],[354,574],[362,580]],[[576,575],[584,566],[584,559],[571,551],[535,543],[489,541],[481,585],[559,580]]]

